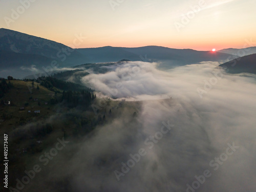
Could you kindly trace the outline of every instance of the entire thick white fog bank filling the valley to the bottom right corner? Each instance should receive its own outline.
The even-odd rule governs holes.
[[[255,190],[255,76],[229,75],[213,62],[157,65],[125,62],[82,78],[106,96],[140,100],[138,115],[121,108],[119,119],[72,142],[75,153],[58,156],[45,183],[65,180],[70,191]],[[168,122],[174,126],[163,134]],[[146,154],[123,173],[141,148]]]

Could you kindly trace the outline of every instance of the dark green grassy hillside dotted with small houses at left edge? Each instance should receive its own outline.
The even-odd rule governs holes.
[[[53,106],[49,101],[54,96],[54,92],[49,91],[36,82],[34,82],[34,88],[32,88],[31,81],[25,82],[12,80],[11,83],[14,87],[9,90],[2,99],[5,101],[11,101],[13,105],[0,106],[0,119],[3,119],[3,114],[11,116],[11,118],[7,118],[4,122],[0,122],[0,135],[4,134],[7,130],[13,130],[15,126],[19,125],[20,118],[25,118],[26,121],[34,118],[34,111],[40,110],[41,113],[37,116],[42,117],[53,113]],[[39,90],[36,89],[37,85]],[[32,91],[32,93],[30,91]],[[33,99],[29,99],[30,97],[33,97]],[[37,98],[38,101],[40,101],[40,106],[38,105],[38,101],[34,101],[34,98]],[[45,105],[45,102],[48,102],[48,105]],[[29,103],[29,105],[25,106],[25,103]],[[25,107],[24,111],[19,110],[22,106]],[[28,113],[28,111],[31,111],[31,113]]]

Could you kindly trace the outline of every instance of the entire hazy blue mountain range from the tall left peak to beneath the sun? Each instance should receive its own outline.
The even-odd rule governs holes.
[[[170,49],[159,46],[139,48],[101,47],[72,49],[58,42],[12,31],[0,29],[0,76],[13,75],[23,78],[52,69],[73,67],[84,63],[131,61],[160,62],[161,69],[171,69],[202,61],[226,61],[226,53],[196,51],[191,49]],[[230,60],[230,59],[229,59]],[[33,70],[31,70],[33,67]]]

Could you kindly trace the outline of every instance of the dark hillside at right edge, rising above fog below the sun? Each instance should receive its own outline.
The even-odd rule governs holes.
[[[223,63],[220,67],[227,68],[228,73],[253,73],[256,74],[256,54],[239,57]]]

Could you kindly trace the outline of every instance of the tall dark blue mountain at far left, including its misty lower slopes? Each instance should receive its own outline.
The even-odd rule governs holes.
[[[0,29],[0,76],[13,75],[22,78],[33,73],[75,66],[84,63],[86,57],[75,49],[58,42],[12,31]],[[52,63],[56,63],[52,65]],[[33,66],[35,71],[28,68]],[[51,71],[51,70],[50,70]]]

